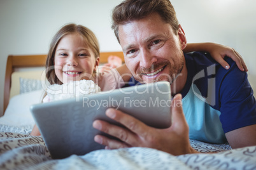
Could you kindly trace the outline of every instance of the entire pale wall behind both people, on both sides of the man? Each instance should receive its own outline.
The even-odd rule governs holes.
[[[0,0],[0,115],[3,114],[5,65],[8,55],[45,54],[53,34],[65,23],[93,30],[101,51],[120,51],[111,30],[111,10],[121,0]],[[188,42],[218,42],[235,48],[245,59],[256,84],[256,1],[173,0]],[[256,87],[255,87],[256,88]]]

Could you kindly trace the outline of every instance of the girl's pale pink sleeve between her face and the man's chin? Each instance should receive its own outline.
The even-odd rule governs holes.
[[[101,91],[109,91],[117,88],[122,88],[125,85],[124,80],[117,69],[104,70],[96,75],[94,81],[101,88]]]

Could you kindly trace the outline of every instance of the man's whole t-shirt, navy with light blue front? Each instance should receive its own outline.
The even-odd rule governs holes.
[[[190,139],[224,143],[225,133],[256,124],[256,101],[247,74],[231,58],[224,59],[229,70],[209,53],[185,54],[188,76],[181,95]]]

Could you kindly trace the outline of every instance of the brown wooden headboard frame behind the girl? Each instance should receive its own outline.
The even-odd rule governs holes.
[[[122,58],[124,62],[124,54],[120,51],[102,52],[100,53],[100,63],[107,63],[108,56],[115,55]],[[4,80],[4,112],[10,100],[11,74],[16,68],[25,67],[44,67],[46,55],[10,55],[6,63],[6,72]]]

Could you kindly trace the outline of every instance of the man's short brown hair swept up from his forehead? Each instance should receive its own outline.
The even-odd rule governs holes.
[[[132,20],[140,20],[146,16],[158,13],[164,22],[169,23],[177,34],[179,23],[173,5],[169,0],[125,0],[116,6],[112,13],[112,29],[118,42],[118,26]]]

